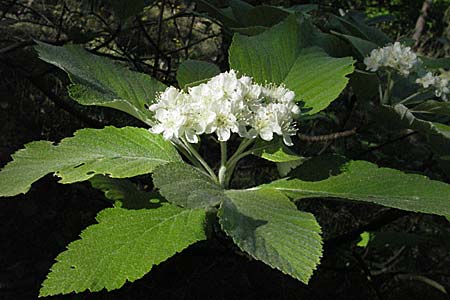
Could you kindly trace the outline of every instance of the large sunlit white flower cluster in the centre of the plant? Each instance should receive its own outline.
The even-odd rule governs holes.
[[[157,120],[150,130],[189,143],[197,143],[201,134],[215,133],[219,141],[227,141],[231,133],[266,141],[277,134],[290,146],[294,117],[300,112],[294,99],[295,93],[283,85],[255,84],[231,70],[188,92],[167,88],[150,106]]]

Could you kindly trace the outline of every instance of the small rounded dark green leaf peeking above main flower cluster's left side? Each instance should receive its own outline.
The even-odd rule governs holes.
[[[186,60],[177,71],[177,81],[180,88],[197,85],[211,77],[220,73],[217,65],[201,61],[201,60]]]

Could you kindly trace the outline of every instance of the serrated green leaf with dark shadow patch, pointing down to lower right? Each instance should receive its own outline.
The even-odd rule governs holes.
[[[282,193],[226,191],[219,222],[239,248],[257,260],[308,283],[322,256],[320,226]]]

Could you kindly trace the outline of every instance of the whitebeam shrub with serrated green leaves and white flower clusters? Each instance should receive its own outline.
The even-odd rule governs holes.
[[[68,73],[75,101],[122,110],[150,127],[85,128],[58,144],[31,142],[1,170],[3,197],[26,193],[55,174],[64,184],[89,180],[113,202],[58,255],[41,297],[118,289],[217,232],[249,257],[306,284],[323,241],[314,215],[293,203],[304,198],[450,215],[448,184],[365,161],[320,153],[305,158],[286,147],[296,142],[297,103],[303,101],[305,117],[314,117],[339,96],[354,71],[352,57],[333,57],[321,48],[330,50],[336,39],[308,22],[292,14],[259,35],[235,35],[231,70],[220,73],[215,65],[190,61],[189,68],[178,69],[181,89],[76,45],[38,43],[40,58]],[[382,49],[366,59],[370,70],[412,71],[417,58],[410,49],[397,43]],[[430,76],[423,80],[427,87],[436,84]],[[219,147],[220,161],[203,155]],[[232,177],[240,180],[233,171],[248,155],[321,176],[310,181],[291,172],[263,185],[229,189]],[[150,192],[126,179],[144,174],[151,174]]]

